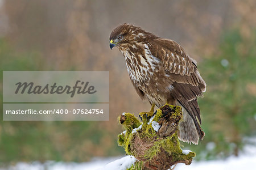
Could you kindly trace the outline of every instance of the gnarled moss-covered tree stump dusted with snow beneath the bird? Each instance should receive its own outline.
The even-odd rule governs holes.
[[[119,116],[125,131],[118,135],[118,145],[138,160],[127,169],[170,169],[177,163],[191,164],[195,152],[181,150],[177,138],[181,118],[181,107],[168,104],[158,109],[153,117],[144,114],[143,122],[131,113]]]

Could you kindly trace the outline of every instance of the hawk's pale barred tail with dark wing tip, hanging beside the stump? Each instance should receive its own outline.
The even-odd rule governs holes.
[[[181,101],[178,100],[177,105],[180,105],[183,109],[183,120],[181,120],[179,124],[178,137],[181,141],[192,142],[197,145],[199,139],[203,139],[205,135],[199,123],[201,119],[197,101],[183,101],[181,103]],[[199,121],[197,121],[197,116],[199,116]]]

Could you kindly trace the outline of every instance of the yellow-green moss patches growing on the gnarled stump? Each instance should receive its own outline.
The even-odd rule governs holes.
[[[165,106],[165,105],[164,105]],[[164,107],[163,106],[163,107]],[[179,120],[180,117],[182,117],[182,109],[179,106],[173,106],[173,105],[168,105],[168,109],[173,110],[171,114],[171,119],[173,118],[174,120]],[[164,110],[163,110],[164,112]],[[135,155],[131,150],[131,142],[133,141],[135,134],[139,135],[140,138],[142,138],[144,141],[152,142],[152,140],[158,139],[158,135],[154,128],[152,128],[152,121],[159,122],[160,118],[162,118],[164,113],[162,112],[161,109],[158,109],[156,111],[156,114],[154,118],[148,118],[146,114],[142,114],[142,122],[140,122],[134,114],[131,113],[125,113],[123,116],[125,116],[125,121],[122,122],[123,128],[126,130],[126,133],[122,133],[118,135],[118,145],[123,146],[125,148],[126,154],[127,155],[134,155],[135,158],[137,158],[138,155]],[[120,119],[120,117],[119,117]],[[142,126],[141,126],[142,125]],[[138,133],[132,133],[133,129],[138,128],[141,126],[141,129],[138,129]],[[171,158],[173,160],[192,160],[192,158],[195,156],[194,152],[189,152],[188,155],[183,154],[181,148],[180,148],[180,142],[179,139],[177,138],[177,132],[174,133],[170,137],[163,138],[159,141],[156,141],[154,143],[154,146],[150,147],[146,153],[143,155],[144,158],[147,160],[150,160],[154,158],[160,151],[160,148],[162,148],[164,151],[168,152],[170,154]],[[139,155],[140,157],[142,155]],[[134,164],[132,167],[129,169],[136,169],[136,168],[141,168],[141,165],[143,162],[137,162],[140,163]]]

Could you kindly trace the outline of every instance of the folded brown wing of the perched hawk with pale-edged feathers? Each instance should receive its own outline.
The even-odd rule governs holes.
[[[204,132],[200,127],[200,109],[197,97],[205,92],[206,84],[197,70],[196,61],[190,58],[177,42],[156,39],[152,42],[152,54],[162,61],[168,78],[172,80],[171,96],[186,109],[191,116],[200,139]]]

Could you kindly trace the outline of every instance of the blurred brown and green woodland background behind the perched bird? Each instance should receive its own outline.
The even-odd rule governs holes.
[[[243,152],[256,137],[256,1],[0,0],[1,70],[110,71],[109,121],[3,122],[1,114],[0,165],[125,154],[117,117],[150,109],[121,52],[109,48],[110,32],[126,22],[179,42],[198,62],[207,82],[199,99],[206,135],[185,148],[198,160]]]

